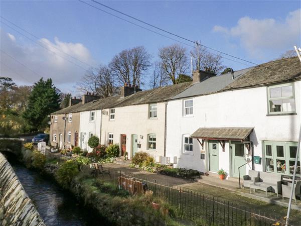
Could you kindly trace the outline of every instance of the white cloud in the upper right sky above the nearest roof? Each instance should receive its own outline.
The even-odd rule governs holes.
[[[288,13],[284,21],[243,17],[235,27],[214,26],[213,31],[238,39],[252,56],[260,57],[266,51],[279,55],[301,42],[301,9]]]

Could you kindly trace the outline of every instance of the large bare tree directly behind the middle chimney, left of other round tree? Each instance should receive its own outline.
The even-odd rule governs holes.
[[[143,46],[138,46],[115,55],[109,67],[121,83],[140,86],[144,72],[152,65],[151,58]]]

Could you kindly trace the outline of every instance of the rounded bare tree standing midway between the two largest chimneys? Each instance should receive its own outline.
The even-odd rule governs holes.
[[[187,49],[181,45],[174,44],[159,49],[160,67],[166,77],[173,82],[179,83],[179,75],[185,74],[189,68]]]

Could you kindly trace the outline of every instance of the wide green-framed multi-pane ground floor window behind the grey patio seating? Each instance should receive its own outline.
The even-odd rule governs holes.
[[[292,175],[294,170],[297,142],[264,142],[265,165],[267,172]],[[300,161],[296,174],[300,175]]]

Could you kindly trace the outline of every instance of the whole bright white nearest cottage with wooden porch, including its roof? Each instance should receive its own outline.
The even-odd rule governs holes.
[[[213,173],[223,168],[231,177],[253,156],[259,161],[241,167],[241,175],[250,168],[292,174],[300,80],[297,57],[234,74],[194,73],[194,84],[168,101],[166,156],[177,157],[175,167]]]

